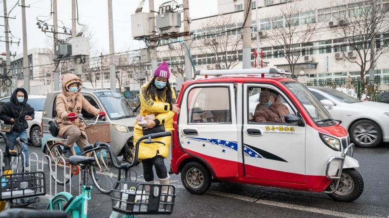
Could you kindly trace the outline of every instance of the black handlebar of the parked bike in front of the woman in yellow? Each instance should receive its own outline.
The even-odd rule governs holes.
[[[113,166],[117,169],[120,169],[120,170],[127,170],[127,169],[130,169],[132,167],[135,166],[136,164],[136,160],[138,159],[138,151],[139,151],[139,143],[141,141],[143,141],[144,139],[147,139],[147,141],[145,141],[144,143],[153,143],[153,142],[157,142],[157,143],[162,143],[164,144],[163,142],[159,142],[159,141],[151,141],[151,139],[153,138],[160,138],[160,137],[165,137],[165,136],[171,136],[172,135],[172,132],[170,131],[167,131],[167,132],[160,132],[160,133],[152,133],[152,134],[148,134],[148,135],[145,135],[145,136],[142,136],[138,139],[138,141],[136,142],[135,144],[135,156],[134,156],[134,161],[130,164],[130,163],[122,163],[120,166],[118,165],[118,163],[116,163],[115,161],[112,161],[113,163]],[[105,143],[105,142],[95,142],[94,145],[97,145],[97,147],[95,148],[92,148],[93,145],[87,145],[87,146],[84,146],[84,149],[85,149],[85,152],[90,152],[92,150],[98,150],[100,149],[101,147],[106,147],[108,149],[108,152],[111,156],[113,156],[113,153],[112,153],[112,150],[111,150],[111,147],[109,146],[108,143]],[[90,147],[89,147],[90,146]],[[90,148],[89,150],[87,150],[86,148]]]

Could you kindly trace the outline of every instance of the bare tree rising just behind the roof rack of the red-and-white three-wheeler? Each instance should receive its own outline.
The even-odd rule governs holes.
[[[200,53],[211,59],[215,69],[232,69],[239,64],[237,50],[242,49],[241,30],[231,28],[235,23],[231,16],[211,18],[202,25],[204,36],[193,41]]]

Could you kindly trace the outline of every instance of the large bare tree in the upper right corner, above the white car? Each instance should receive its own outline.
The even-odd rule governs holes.
[[[338,34],[344,38],[350,50],[343,51],[343,57],[348,62],[359,65],[362,81],[366,72],[374,69],[377,59],[389,51],[388,41],[381,35],[389,32],[389,4],[380,2],[348,1],[348,13],[344,13],[342,22],[339,23]]]

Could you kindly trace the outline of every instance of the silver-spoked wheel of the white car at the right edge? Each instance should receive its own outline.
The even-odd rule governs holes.
[[[359,120],[350,127],[351,141],[358,147],[375,147],[382,142],[382,131],[371,120]]]

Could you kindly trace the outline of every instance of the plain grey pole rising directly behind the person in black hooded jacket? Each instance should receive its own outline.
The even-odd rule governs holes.
[[[27,54],[27,30],[26,30],[26,6],[25,1],[22,0],[22,29],[23,29],[23,80],[24,89],[30,93],[28,54]]]

